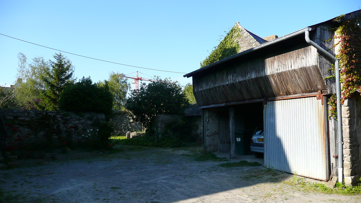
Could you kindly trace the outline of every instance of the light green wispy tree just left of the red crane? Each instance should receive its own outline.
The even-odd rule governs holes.
[[[128,79],[122,80],[119,75],[120,73],[110,72],[108,81],[99,81],[99,85],[103,85],[105,82],[108,82],[109,91],[112,92],[113,95],[113,109],[124,108],[127,92],[130,91],[130,83],[128,83]]]

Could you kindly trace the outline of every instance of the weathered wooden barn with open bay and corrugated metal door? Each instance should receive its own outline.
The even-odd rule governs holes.
[[[357,16],[361,10],[346,14]],[[334,74],[335,61],[305,40],[307,33],[335,56],[333,28],[338,23],[331,19],[258,44],[259,37],[245,30],[255,39],[250,38],[252,48],[184,75],[192,77],[202,109],[204,150],[229,152],[230,158],[246,155],[252,135],[264,130],[265,167],[324,181],[343,176],[346,184],[358,182],[360,93],[343,104],[343,156],[338,157],[337,120],[328,118],[327,104],[336,82],[325,79]]]

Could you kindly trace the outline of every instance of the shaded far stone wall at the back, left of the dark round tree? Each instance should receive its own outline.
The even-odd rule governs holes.
[[[134,122],[126,112],[113,113],[110,122],[114,125],[114,134],[126,135],[128,131],[144,131],[140,122]]]

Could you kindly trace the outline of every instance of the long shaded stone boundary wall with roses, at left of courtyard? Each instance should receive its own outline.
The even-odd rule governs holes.
[[[0,112],[8,133],[6,151],[41,147],[46,143],[59,143],[65,138],[86,142],[95,139],[99,127],[105,124],[104,113],[90,112],[79,116],[73,112],[19,109],[0,109]]]

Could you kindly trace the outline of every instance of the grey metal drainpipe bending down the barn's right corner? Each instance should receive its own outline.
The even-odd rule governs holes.
[[[332,56],[325,49],[312,42],[309,38],[309,31],[305,31],[306,42],[311,46],[315,47],[318,51],[328,56],[330,59],[335,61],[335,72],[336,72],[336,97],[337,97],[337,137],[338,137],[338,181],[343,183],[343,138],[342,138],[342,114],[341,114],[341,83],[340,83],[340,68],[339,62],[336,57]]]

